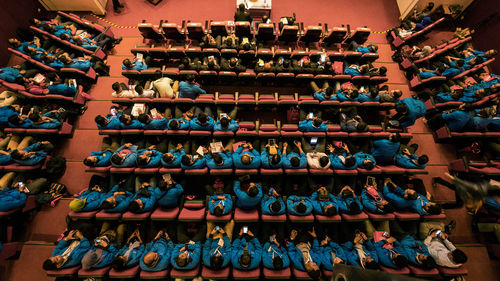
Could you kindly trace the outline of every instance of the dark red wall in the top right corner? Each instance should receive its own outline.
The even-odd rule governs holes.
[[[473,28],[474,48],[500,51],[500,1],[476,0],[465,11],[462,27]],[[493,73],[500,74],[500,57],[491,64]]]

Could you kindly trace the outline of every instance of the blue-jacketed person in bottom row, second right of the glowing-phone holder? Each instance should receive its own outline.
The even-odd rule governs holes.
[[[288,257],[295,269],[306,271],[313,280],[318,280],[321,271],[321,250],[319,242],[314,231],[297,231],[293,229],[290,232],[290,241],[288,242]]]

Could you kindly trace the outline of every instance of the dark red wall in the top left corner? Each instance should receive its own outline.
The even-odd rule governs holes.
[[[44,9],[37,0],[0,0],[0,5],[0,66],[5,66],[10,57],[7,39],[16,37],[17,28],[28,27],[38,8]]]

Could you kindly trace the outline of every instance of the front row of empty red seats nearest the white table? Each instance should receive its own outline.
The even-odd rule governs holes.
[[[258,41],[281,41],[287,43],[325,43],[337,44],[347,41],[356,41],[363,44],[368,40],[371,30],[366,27],[358,27],[351,32],[350,26],[334,27],[328,29],[328,25],[310,25],[304,28],[304,24],[285,25],[279,31],[275,23],[255,23],[246,21],[205,21],[201,23],[183,21],[179,26],[172,22],[161,21],[159,25],[153,25],[143,21],[137,25],[144,39],[155,42],[175,40],[177,42],[201,41],[206,34],[216,36],[227,36],[235,34],[238,37],[256,38]]]

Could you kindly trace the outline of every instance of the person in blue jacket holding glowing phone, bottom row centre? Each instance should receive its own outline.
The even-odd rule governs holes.
[[[262,246],[253,235],[252,231],[243,233],[240,230],[239,237],[234,239],[231,249],[231,264],[238,270],[256,269],[262,259]]]

